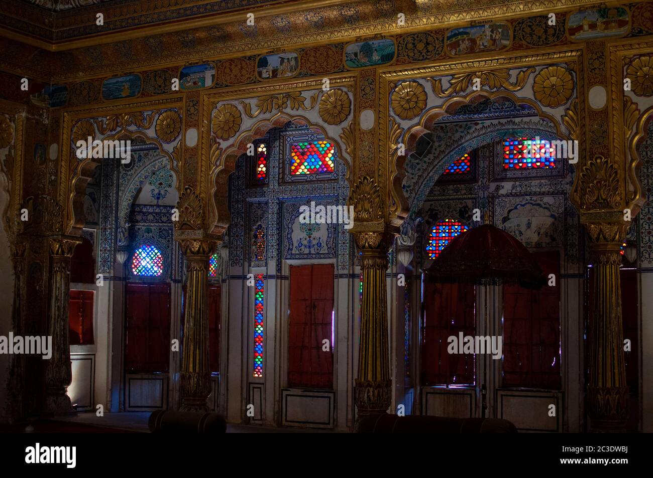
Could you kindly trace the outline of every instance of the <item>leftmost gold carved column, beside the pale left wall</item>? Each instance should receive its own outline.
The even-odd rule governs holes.
[[[67,389],[72,381],[69,346],[68,305],[71,289],[72,252],[81,240],[78,237],[50,237],[52,275],[50,276],[50,321],[48,336],[52,336],[52,357],[46,365],[46,403],[48,415],[72,413]]]

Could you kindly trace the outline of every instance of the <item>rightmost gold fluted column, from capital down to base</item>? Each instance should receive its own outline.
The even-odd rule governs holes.
[[[629,391],[624,363],[620,246],[628,224],[585,224],[594,271],[594,314],[590,317],[590,377],[587,406],[590,431],[624,430]]]

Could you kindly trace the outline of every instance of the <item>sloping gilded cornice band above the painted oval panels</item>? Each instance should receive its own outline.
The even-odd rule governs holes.
[[[445,2],[433,2],[426,5],[426,8],[419,8],[413,0],[359,1],[347,5],[343,5],[345,2],[342,0],[323,0],[311,1],[309,3],[311,9],[306,10],[306,3],[284,3],[276,7],[263,7],[257,13],[257,23],[251,30],[244,24],[244,12],[234,12],[205,16],[197,21],[178,20],[171,25],[160,25],[150,33],[148,28],[132,29],[121,32],[118,37],[114,37],[114,34],[95,35],[92,38],[65,44],[39,44],[38,46],[44,49],[44,53],[49,50],[61,54],[63,50],[67,50],[65,57],[57,56],[57,61],[50,66],[50,80],[61,82],[110,72],[224,59],[244,53],[264,53],[270,50],[306,48],[371,37],[405,35],[417,31],[429,31],[436,26],[450,28],[490,19],[505,21],[538,13],[577,10],[582,5],[592,5],[589,2],[575,3],[571,0],[513,3],[483,0],[475,3],[474,8],[466,6],[458,9],[457,5]],[[618,4],[618,2],[610,4],[612,3]],[[377,4],[387,4],[387,8],[378,8]],[[391,5],[393,7],[390,7]],[[343,14],[343,8],[346,8],[347,12],[353,9],[351,11],[355,10],[356,13],[347,16]],[[269,14],[266,14],[268,10]],[[397,12],[406,14],[406,24],[403,27],[397,25]],[[281,27],[283,31],[279,30],[279,19],[288,22]],[[183,33],[174,33],[171,29]],[[8,38],[19,38],[19,33],[14,31],[5,31],[4,34]],[[3,35],[1,28],[0,35]],[[148,37],[147,40],[140,38],[148,35],[153,36]],[[185,40],[180,40],[179,35],[190,38],[185,46],[180,47],[180,42],[184,43]],[[133,51],[128,49],[129,54],[123,55],[121,52],[129,40],[134,41],[131,45]],[[20,41],[30,44],[29,38],[20,38]],[[144,52],[150,51],[148,42],[161,42],[174,48],[163,48],[151,55],[145,55]],[[101,47],[104,44],[110,46],[110,50],[104,50],[102,53]],[[86,48],[88,50],[85,50]],[[10,70],[23,69],[13,61],[9,58],[0,65]],[[84,64],[84,70],[71,67],[76,63]]]

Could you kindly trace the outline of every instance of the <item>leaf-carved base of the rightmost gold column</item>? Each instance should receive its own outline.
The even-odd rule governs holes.
[[[626,432],[628,387],[588,387],[587,403],[590,432]]]

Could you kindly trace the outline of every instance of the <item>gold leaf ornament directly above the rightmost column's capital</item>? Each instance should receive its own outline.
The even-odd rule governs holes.
[[[579,185],[582,209],[620,207],[619,171],[603,156],[596,155],[582,167]]]

